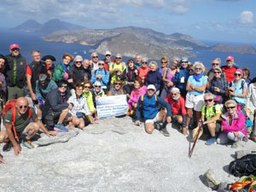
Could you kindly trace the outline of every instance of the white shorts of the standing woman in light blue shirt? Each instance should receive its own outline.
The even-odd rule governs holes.
[[[186,108],[194,108],[195,111],[201,112],[201,108],[204,106],[204,94],[200,96],[195,96],[193,94],[187,93],[186,96]]]

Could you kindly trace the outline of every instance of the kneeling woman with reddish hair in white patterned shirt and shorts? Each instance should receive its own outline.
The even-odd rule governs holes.
[[[69,129],[73,129],[74,126],[77,126],[79,129],[84,129],[84,125],[88,125],[89,123],[94,124],[95,122],[90,115],[86,98],[83,96],[83,84],[77,82],[74,88],[75,95],[70,96],[67,100],[67,102],[71,103],[73,106],[69,110],[69,113],[73,116],[73,119],[69,121]],[[84,122],[84,120],[86,122]]]

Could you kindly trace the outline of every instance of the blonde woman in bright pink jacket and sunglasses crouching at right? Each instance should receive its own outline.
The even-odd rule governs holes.
[[[221,122],[221,131],[223,131],[217,139],[219,144],[228,143],[231,141],[239,141],[247,135],[246,117],[241,112],[240,105],[235,100],[225,102],[227,112],[224,113]],[[233,144],[233,148],[237,147],[238,143]]]

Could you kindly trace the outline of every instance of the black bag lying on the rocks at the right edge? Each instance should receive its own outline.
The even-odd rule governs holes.
[[[229,172],[236,176],[256,176],[256,154],[247,154],[230,162]]]

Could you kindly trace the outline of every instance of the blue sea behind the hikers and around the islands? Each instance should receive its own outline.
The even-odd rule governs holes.
[[[0,29],[0,54],[9,54],[10,44],[19,44],[21,49],[21,55],[26,57],[26,61],[29,64],[32,62],[31,52],[33,49],[38,49],[41,52],[42,57],[44,55],[54,55],[56,58],[55,64],[61,61],[62,55],[70,53],[71,55],[82,55],[84,59],[90,59],[90,49],[95,49],[93,46],[84,46],[81,44],[63,44],[55,42],[47,42],[41,38],[40,34],[26,33],[26,32],[11,32],[6,29]],[[212,42],[211,40],[203,42],[204,44],[212,45],[224,42]],[[227,43],[225,44],[236,44]],[[256,49],[256,44],[250,44]],[[214,58],[220,58],[222,65],[225,65],[225,58],[229,55],[235,57],[236,67],[247,67],[250,70],[250,78],[256,77],[256,55],[253,54],[239,54],[239,53],[224,53],[217,51],[206,50],[188,50],[196,55],[196,57],[189,58],[189,61],[194,63],[195,61],[201,61],[207,68],[211,68],[211,61]],[[140,53],[143,54],[143,53]],[[168,55],[166,55],[168,56]],[[103,59],[104,55],[99,55],[99,59]],[[123,57],[124,61],[127,61],[130,57]],[[160,64],[160,61],[157,61]]]

